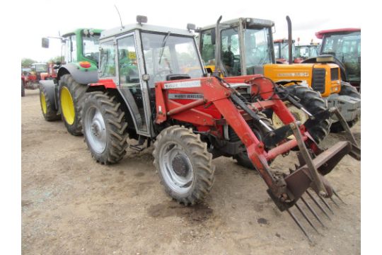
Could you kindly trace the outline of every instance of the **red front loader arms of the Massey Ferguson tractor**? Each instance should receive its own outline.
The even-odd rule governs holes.
[[[249,79],[250,78],[250,79]],[[197,129],[204,129],[204,126],[209,128],[208,130],[219,130],[218,127],[221,123],[226,123],[236,132],[243,145],[248,152],[248,157],[255,165],[256,169],[260,172],[262,179],[269,187],[268,193],[274,199],[280,210],[286,210],[298,200],[302,193],[310,186],[313,186],[315,191],[322,196],[328,194],[327,189],[323,185],[323,177],[318,172],[318,166],[308,157],[306,145],[312,144],[308,132],[305,131],[303,125],[298,125],[293,115],[288,111],[279,96],[274,93],[274,84],[269,79],[265,79],[260,75],[248,76],[248,77],[233,77],[233,79],[227,79],[229,82],[236,83],[251,83],[253,91],[257,90],[257,93],[261,95],[263,102],[271,103],[244,103],[236,95],[236,91],[231,89],[228,84],[221,83],[216,77],[207,77],[202,79],[187,79],[186,81],[164,81],[156,84],[156,123],[164,123],[167,120],[180,120],[186,123],[195,125]],[[173,99],[170,99],[170,95],[174,94],[197,94],[202,95],[202,98],[190,103],[180,104],[175,103]],[[212,106],[213,105],[213,106]],[[248,107],[246,107],[248,105]],[[221,114],[221,118],[214,118],[212,115],[204,114],[205,108],[214,107]],[[261,108],[272,108],[279,118],[287,125],[287,129],[295,134],[294,140],[283,140],[279,142],[276,147],[265,151],[264,143],[259,141],[255,136],[253,130],[248,125],[245,119],[248,119],[248,115],[255,115]],[[252,111],[252,113],[250,113]],[[190,114],[192,113],[192,114]],[[195,114],[196,113],[196,114]],[[249,113],[249,114],[248,114]],[[204,124],[203,124],[204,123]],[[259,123],[260,125],[260,123]],[[211,131],[213,132],[213,131]],[[285,132],[285,137],[289,136],[290,132]],[[272,136],[272,132],[270,132]],[[274,130],[274,134],[277,135],[277,130]],[[302,152],[306,152],[303,155],[303,160],[306,162],[306,167],[302,167],[294,173],[294,176],[299,176],[299,181],[295,181],[293,178],[289,178],[288,183],[285,181],[289,175],[275,176],[272,174],[268,160],[274,159],[279,154],[289,152],[290,149],[299,146]],[[350,146],[350,145],[349,145]],[[349,147],[347,146],[347,147]],[[310,149],[315,149],[316,154],[320,152],[313,146]],[[330,154],[330,158],[333,155]],[[343,157],[343,155],[342,155]],[[320,165],[325,160],[329,160],[328,157],[320,158]],[[331,170],[331,169],[330,169]],[[329,170],[329,171],[330,171]],[[302,172],[302,174],[298,174]],[[302,189],[301,189],[302,188]],[[296,192],[299,191],[299,192]],[[302,191],[302,192],[301,192]]]

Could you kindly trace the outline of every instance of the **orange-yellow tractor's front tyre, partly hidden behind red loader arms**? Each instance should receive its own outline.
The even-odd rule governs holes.
[[[324,111],[328,108],[320,93],[313,91],[311,87],[292,85],[288,86],[287,90],[291,95],[300,98],[301,101],[299,103],[301,103],[301,105],[306,108],[306,110],[312,115],[315,115],[316,113]],[[332,120],[328,118],[326,120],[314,121],[316,125],[308,128],[307,131],[313,137],[313,140],[315,140],[317,143],[320,143],[328,135]]]

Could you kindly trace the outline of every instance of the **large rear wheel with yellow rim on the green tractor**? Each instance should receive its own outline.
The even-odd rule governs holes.
[[[71,74],[64,74],[59,80],[59,107],[71,135],[82,135],[81,111],[85,94],[86,85],[74,81]]]

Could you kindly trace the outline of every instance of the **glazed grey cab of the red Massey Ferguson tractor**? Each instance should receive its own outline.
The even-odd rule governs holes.
[[[130,128],[151,137],[158,81],[203,77],[192,32],[146,24],[105,30],[100,35],[98,83],[108,81],[125,98]]]

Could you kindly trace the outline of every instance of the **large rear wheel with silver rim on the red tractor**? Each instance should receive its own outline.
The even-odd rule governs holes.
[[[108,92],[88,94],[82,111],[83,134],[91,156],[100,164],[115,164],[127,149],[127,121],[121,103]]]

